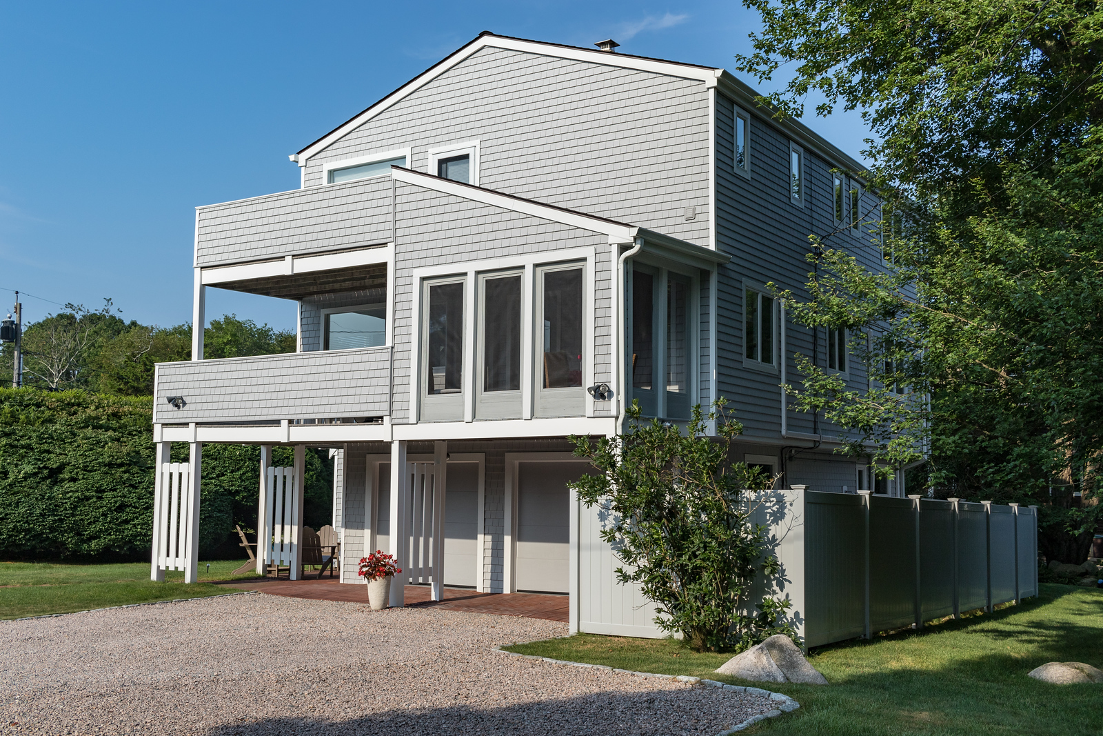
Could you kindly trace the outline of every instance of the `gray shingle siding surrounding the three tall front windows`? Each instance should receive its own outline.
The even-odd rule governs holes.
[[[416,268],[456,264],[464,273],[475,260],[596,247],[598,295],[596,326],[602,337],[593,346],[596,370],[610,371],[610,247],[609,238],[569,225],[540,220],[493,205],[472,202],[414,184],[396,185],[395,233],[395,386],[393,418],[409,418],[409,371]],[[549,256],[549,262],[555,257]]]

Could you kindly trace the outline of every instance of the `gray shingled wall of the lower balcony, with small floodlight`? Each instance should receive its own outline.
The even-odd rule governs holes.
[[[389,367],[389,348],[159,363],[153,422],[385,416]]]

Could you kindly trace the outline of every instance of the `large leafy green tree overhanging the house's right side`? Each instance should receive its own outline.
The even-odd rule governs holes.
[[[850,451],[924,454],[943,495],[1043,503],[1050,556],[1083,558],[1103,451],[1103,12],[1096,2],[745,0],[739,65],[800,115],[861,110],[878,139],[864,213],[886,269],[812,233],[808,326],[847,327],[872,388],[804,361],[799,406],[857,429]],[[792,294],[780,296],[793,298]],[[904,388],[903,392],[898,388]],[[1077,559],[1079,562],[1079,559]]]

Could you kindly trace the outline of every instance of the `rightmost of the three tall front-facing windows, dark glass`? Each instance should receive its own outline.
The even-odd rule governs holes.
[[[582,385],[582,269],[544,274],[544,387]]]

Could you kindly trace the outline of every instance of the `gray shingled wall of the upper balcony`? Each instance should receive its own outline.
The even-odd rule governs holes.
[[[197,210],[197,266],[381,244],[390,239],[390,177]]]

